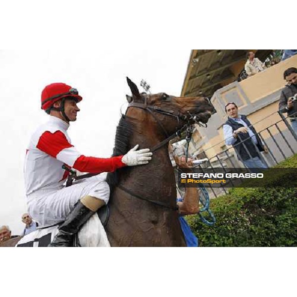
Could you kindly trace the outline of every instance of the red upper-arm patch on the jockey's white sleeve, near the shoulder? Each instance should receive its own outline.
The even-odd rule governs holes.
[[[73,147],[67,140],[64,133],[56,131],[50,133],[46,131],[39,139],[36,146],[40,150],[46,152],[50,156],[56,158],[56,155],[64,148]]]

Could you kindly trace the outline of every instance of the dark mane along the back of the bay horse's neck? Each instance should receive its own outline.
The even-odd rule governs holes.
[[[129,150],[129,137],[133,131],[133,124],[127,121],[127,116],[122,115],[119,124],[116,127],[115,141],[112,156],[124,155]],[[119,170],[109,172],[106,182],[112,192],[113,188],[119,183]]]

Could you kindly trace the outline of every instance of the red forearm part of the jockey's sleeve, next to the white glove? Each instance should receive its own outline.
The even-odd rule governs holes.
[[[81,155],[76,159],[73,168],[81,172],[90,173],[113,172],[118,168],[126,166],[126,164],[122,162],[122,157],[123,156],[95,158]]]

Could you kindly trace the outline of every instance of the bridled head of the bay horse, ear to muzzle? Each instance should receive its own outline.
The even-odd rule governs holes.
[[[186,123],[206,124],[215,108],[210,100],[203,97],[174,97],[165,93],[148,95],[140,93],[137,86],[127,77],[132,97],[127,96],[129,106],[146,109],[151,113],[163,115],[162,124],[168,132],[174,133]]]

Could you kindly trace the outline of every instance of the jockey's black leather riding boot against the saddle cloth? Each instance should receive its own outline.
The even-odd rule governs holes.
[[[66,220],[59,227],[59,233],[54,237],[49,247],[73,247],[74,235],[86,223],[95,212],[86,207],[80,201],[67,215]]]

